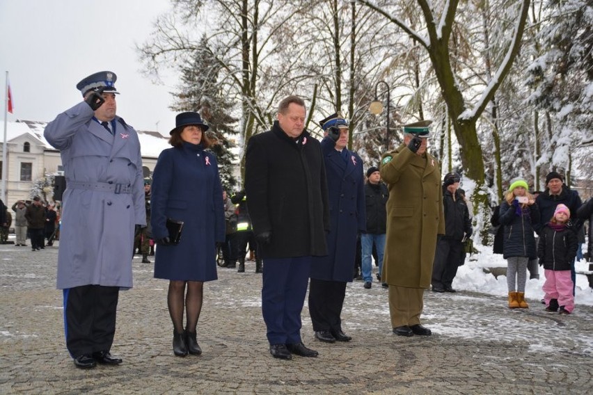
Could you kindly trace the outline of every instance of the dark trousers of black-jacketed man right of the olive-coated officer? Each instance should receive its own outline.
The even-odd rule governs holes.
[[[432,287],[447,288],[451,287],[457,267],[461,261],[461,255],[464,251],[464,245],[459,240],[441,237],[436,243],[436,253],[434,254],[434,265],[432,267]]]

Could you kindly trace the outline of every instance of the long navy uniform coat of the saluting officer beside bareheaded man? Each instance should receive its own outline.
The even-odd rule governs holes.
[[[330,232],[326,236],[325,257],[313,259],[311,278],[351,282],[356,258],[356,234],[366,229],[363,161],[356,152],[347,151],[344,161],[335,143],[326,137],[321,142],[329,193]]]

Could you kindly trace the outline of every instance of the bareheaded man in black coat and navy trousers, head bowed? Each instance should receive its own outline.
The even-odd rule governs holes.
[[[270,131],[247,143],[245,189],[264,267],[262,314],[270,353],[316,357],[301,341],[301,311],[312,257],[327,255],[329,205],[319,141],[304,130],[303,100],[278,106]]]

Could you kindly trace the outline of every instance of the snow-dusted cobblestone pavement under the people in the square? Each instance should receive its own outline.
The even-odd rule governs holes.
[[[0,245],[0,394],[585,394],[593,379],[593,307],[571,316],[509,310],[503,297],[427,293],[432,337],[391,332],[386,290],[349,284],[343,327],[354,339],[317,358],[269,355],[261,275],[219,268],[198,323],[203,355],[175,357],[164,280],[134,258],[134,289],[120,293],[112,352],[120,366],[76,369],[65,350],[57,248]]]

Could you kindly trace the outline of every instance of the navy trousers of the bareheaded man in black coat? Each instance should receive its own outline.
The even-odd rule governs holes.
[[[311,257],[264,258],[262,314],[269,344],[301,342]]]

